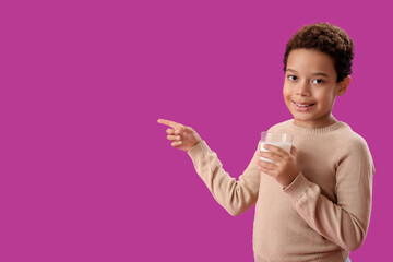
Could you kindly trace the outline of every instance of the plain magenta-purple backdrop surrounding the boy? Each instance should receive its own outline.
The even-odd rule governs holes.
[[[260,131],[291,118],[285,44],[313,22],[355,41],[334,115],[377,169],[350,257],[389,260],[388,2],[1,1],[0,261],[253,261],[253,209],[226,213],[156,121],[193,127],[238,178]]]

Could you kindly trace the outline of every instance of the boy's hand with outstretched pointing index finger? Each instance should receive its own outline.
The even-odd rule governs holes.
[[[202,140],[191,127],[165,119],[158,119],[158,122],[171,128],[167,129],[167,139],[172,141],[171,146],[176,148],[187,152]]]

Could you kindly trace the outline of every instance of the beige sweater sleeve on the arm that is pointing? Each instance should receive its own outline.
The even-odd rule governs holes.
[[[246,212],[257,202],[260,186],[257,153],[258,148],[237,181],[223,169],[216,153],[207,146],[205,141],[199,142],[188,152],[198,175],[213,198],[233,216]]]

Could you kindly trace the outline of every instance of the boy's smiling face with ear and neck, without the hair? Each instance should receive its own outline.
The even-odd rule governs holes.
[[[350,78],[336,83],[333,59],[321,51],[295,49],[287,60],[284,99],[295,123],[308,128],[323,128],[335,122],[334,100],[344,94]]]

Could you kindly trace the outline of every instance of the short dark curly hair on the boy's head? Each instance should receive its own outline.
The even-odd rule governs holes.
[[[342,28],[330,23],[314,23],[301,27],[286,45],[284,72],[290,51],[299,48],[315,49],[333,58],[337,83],[352,74],[354,43]]]

